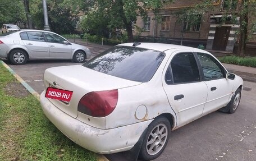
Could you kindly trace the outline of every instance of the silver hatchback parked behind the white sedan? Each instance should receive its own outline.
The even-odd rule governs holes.
[[[72,59],[83,63],[90,55],[85,46],[70,43],[51,31],[15,30],[0,36],[0,58],[14,65],[24,65],[28,59]]]

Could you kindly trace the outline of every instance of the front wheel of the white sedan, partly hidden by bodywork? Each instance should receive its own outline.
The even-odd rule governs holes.
[[[236,90],[230,102],[225,107],[221,108],[219,111],[225,112],[225,113],[236,112],[236,109],[239,106],[240,100],[241,100],[241,89],[239,88]]]

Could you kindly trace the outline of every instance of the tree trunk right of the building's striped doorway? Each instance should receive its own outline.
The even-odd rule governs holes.
[[[240,57],[244,57],[246,54],[246,43],[248,37],[248,5],[246,0],[239,1],[239,12],[241,13],[239,24],[240,24],[240,32],[239,32],[239,41],[237,54]]]

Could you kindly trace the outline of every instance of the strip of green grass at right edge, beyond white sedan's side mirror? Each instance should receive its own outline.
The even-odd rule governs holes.
[[[225,56],[218,57],[222,63],[239,65],[239,66],[248,66],[256,67],[256,57],[236,57],[236,56]]]

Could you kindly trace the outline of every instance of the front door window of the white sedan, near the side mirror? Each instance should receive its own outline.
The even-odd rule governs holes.
[[[205,81],[225,78],[225,70],[215,58],[205,53],[198,53],[198,58],[203,69]]]

